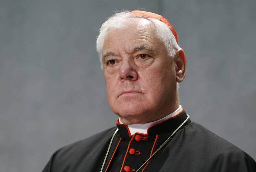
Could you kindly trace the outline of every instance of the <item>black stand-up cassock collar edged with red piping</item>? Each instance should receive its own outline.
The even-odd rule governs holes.
[[[163,134],[168,132],[174,132],[187,118],[186,112],[182,108],[181,111],[170,118],[154,123],[149,126],[147,133],[139,133],[146,136],[154,136],[156,134]],[[187,122],[189,123],[189,122]],[[132,134],[127,125],[119,123],[117,120],[117,127],[121,137],[131,137]]]

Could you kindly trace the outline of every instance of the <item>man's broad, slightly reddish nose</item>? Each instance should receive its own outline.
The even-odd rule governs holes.
[[[124,82],[125,80],[135,81],[138,79],[135,64],[131,61],[124,60],[119,68],[119,79]]]

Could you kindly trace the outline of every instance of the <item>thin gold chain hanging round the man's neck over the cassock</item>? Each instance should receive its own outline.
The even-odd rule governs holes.
[[[148,161],[150,161],[150,160],[159,152],[159,150],[160,150],[161,148],[163,148],[164,145],[167,144],[167,142],[170,141],[170,139],[172,138],[172,136],[188,121],[188,119],[189,119],[189,115],[187,114],[187,119],[186,119],[186,120],[168,137],[168,138],[167,138],[167,140],[166,140],[165,142],[163,142],[163,144],[154,152],[154,154],[152,154],[152,155],[142,164],[142,166],[139,167],[135,172],[138,172],[139,170],[141,170],[141,169],[146,165],[146,163],[147,163]],[[102,164],[102,167],[101,167],[100,172],[102,172],[103,167],[104,167],[104,165],[105,165],[105,163],[106,163],[106,160],[107,160],[107,157],[108,157],[108,153],[109,153],[111,144],[112,144],[113,139],[114,139],[114,136],[115,136],[115,134],[117,134],[117,132],[118,132],[118,129],[115,130],[115,132],[114,132],[114,134],[113,134],[113,136],[112,136],[112,138],[111,138],[111,141],[110,141],[109,146],[108,146],[107,154],[106,154],[105,159],[104,159],[104,161],[103,161],[103,164]]]

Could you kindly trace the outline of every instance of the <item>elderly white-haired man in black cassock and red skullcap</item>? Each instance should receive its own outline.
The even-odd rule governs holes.
[[[117,127],[57,150],[44,172],[255,172],[245,152],[191,122],[179,103],[186,56],[162,16],[114,14],[97,38]]]

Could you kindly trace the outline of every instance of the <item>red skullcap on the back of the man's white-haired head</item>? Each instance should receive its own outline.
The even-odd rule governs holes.
[[[168,20],[166,18],[164,18],[163,16],[161,16],[159,14],[155,14],[155,13],[151,13],[151,12],[147,12],[147,11],[139,11],[139,10],[134,10],[134,11],[131,11],[130,13],[134,14],[134,15],[141,16],[141,17],[156,18],[156,19],[160,20],[161,22],[167,24],[167,26],[169,26],[169,28],[171,29],[177,43],[179,44],[178,35],[176,34],[176,31],[174,30],[172,25],[168,22]]]

